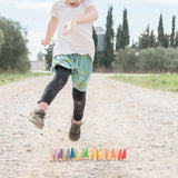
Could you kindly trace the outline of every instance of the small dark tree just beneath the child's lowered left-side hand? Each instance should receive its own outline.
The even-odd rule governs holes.
[[[52,65],[53,47],[55,47],[55,42],[52,42],[51,44],[48,46],[48,48],[46,48],[47,53],[44,55],[44,60],[46,60],[46,63],[47,63],[47,70],[50,70],[51,65]]]

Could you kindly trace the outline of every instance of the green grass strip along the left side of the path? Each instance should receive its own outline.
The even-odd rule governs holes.
[[[50,76],[51,73],[46,72],[28,72],[28,73],[0,73],[0,86],[7,85],[9,82],[20,81],[28,78]]]

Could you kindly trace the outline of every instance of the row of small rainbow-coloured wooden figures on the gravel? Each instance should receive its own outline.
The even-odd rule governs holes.
[[[112,148],[111,154],[109,150],[102,149],[101,154],[98,148],[83,148],[79,156],[77,149],[68,148],[67,152],[65,149],[52,149],[50,152],[50,161],[62,161],[62,160],[126,160],[127,152],[126,149],[115,149]]]

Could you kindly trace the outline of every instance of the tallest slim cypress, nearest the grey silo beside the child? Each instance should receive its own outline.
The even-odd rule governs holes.
[[[111,62],[115,60],[113,52],[113,20],[112,20],[112,6],[108,9],[107,23],[106,23],[106,50],[105,58],[102,59],[103,65],[107,69],[111,69]]]

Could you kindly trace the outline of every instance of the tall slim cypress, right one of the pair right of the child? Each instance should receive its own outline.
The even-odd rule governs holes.
[[[127,9],[123,10],[123,20],[122,20],[122,41],[121,46],[125,49],[126,46],[129,44],[130,36],[129,36],[129,26],[127,20]]]

